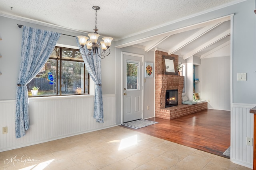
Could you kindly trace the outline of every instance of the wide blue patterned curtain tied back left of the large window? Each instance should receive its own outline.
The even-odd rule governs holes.
[[[16,91],[16,138],[23,137],[29,129],[28,84],[49,59],[60,33],[32,27],[23,28],[20,73]]]

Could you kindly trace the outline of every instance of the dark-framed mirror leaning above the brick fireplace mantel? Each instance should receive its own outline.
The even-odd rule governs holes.
[[[174,63],[175,63],[174,57],[163,55],[163,63],[164,63],[164,74],[176,75],[177,70],[176,70],[176,66],[174,66]]]

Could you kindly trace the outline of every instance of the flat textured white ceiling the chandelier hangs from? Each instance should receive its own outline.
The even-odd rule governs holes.
[[[0,0],[0,13],[122,39],[237,0]],[[12,9],[11,9],[12,7]]]

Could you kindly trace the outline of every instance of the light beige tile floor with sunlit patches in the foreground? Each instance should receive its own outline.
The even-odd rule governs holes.
[[[1,170],[249,170],[229,159],[116,126],[0,152]]]

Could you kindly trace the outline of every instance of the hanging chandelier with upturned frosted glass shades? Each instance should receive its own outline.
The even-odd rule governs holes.
[[[77,36],[79,39],[79,43],[81,45],[81,48],[79,49],[80,53],[82,55],[88,55],[90,56],[92,53],[93,55],[95,55],[96,53],[98,54],[98,56],[101,59],[104,59],[106,56],[108,56],[110,54],[110,45],[111,45],[111,41],[113,40],[113,38],[111,37],[103,37],[102,40],[103,41],[99,41],[98,37],[100,36],[98,34],[98,29],[97,29],[97,10],[100,10],[100,7],[98,6],[93,6],[92,9],[94,9],[96,11],[95,13],[95,29],[94,33],[89,33],[88,36],[90,37],[90,40],[88,37],[83,36],[83,35],[79,35]],[[85,48],[84,46],[86,45],[87,49],[89,50],[89,54],[86,54]],[[100,49],[102,49],[102,52],[100,53]]]

